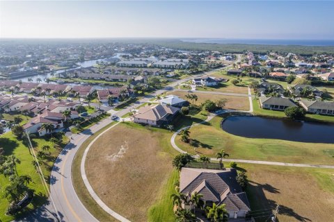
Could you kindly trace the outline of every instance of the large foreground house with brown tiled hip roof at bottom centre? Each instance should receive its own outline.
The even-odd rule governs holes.
[[[180,192],[191,198],[191,194],[202,194],[205,207],[225,204],[231,219],[244,218],[250,212],[246,193],[237,183],[236,169],[196,169],[183,167],[180,173]],[[182,203],[182,208],[193,209],[193,205]]]

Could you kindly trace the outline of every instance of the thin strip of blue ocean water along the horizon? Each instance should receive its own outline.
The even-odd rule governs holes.
[[[218,44],[269,44],[300,46],[334,46],[334,40],[255,40],[255,39],[183,39],[182,42]]]

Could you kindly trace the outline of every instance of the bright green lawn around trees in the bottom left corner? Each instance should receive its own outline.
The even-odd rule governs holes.
[[[49,183],[49,177],[51,174],[51,169],[54,163],[55,158],[58,156],[58,153],[61,149],[54,148],[54,144],[48,141],[49,139],[43,138],[35,138],[32,139],[32,144],[35,148],[35,152],[37,153],[43,145],[51,146],[49,150],[50,155],[47,159],[42,161],[41,167],[47,183]],[[63,144],[67,143],[67,137],[63,137]],[[15,218],[19,218],[26,214],[29,214],[37,207],[40,207],[47,200],[47,191],[42,186],[42,182],[35,168],[31,164],[33,161],[33,157],[29,153],[29,148],[25,146],[22,141],[17,140],[16,137],[11,133],[5,133],[0,136],[0,146],[3,147],[5,154],[4,155],[15,155],[20,163],[17,164],[17,173],[18,175],[29,175],[31,176],[33,182],[29,185],[32,189],[35,190],[35,196],[31,204],[22,212],[22,214],[18,214],[16,217],[14,216],[5,216],[6,209],[8,207],[8,200],[6,198],[0,198],[0,221],[12,221]],[[8,184],[8,178],[4,176],[0,176],[0,184],[1,184],[1,193],[2,189]]]

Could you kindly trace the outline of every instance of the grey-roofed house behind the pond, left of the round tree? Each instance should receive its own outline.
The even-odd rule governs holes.
[[[296,107],[290,99],[260,96],[260,105],[262,109],[284,111],[289,107]]]

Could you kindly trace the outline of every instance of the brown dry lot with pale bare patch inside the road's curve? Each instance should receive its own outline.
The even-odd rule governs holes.
[[[86,173],[90,185],[112,210],[131,221],[147,221],[170,172],[171,156],[159,145],[162,133],[122,123],[90,148]]]

